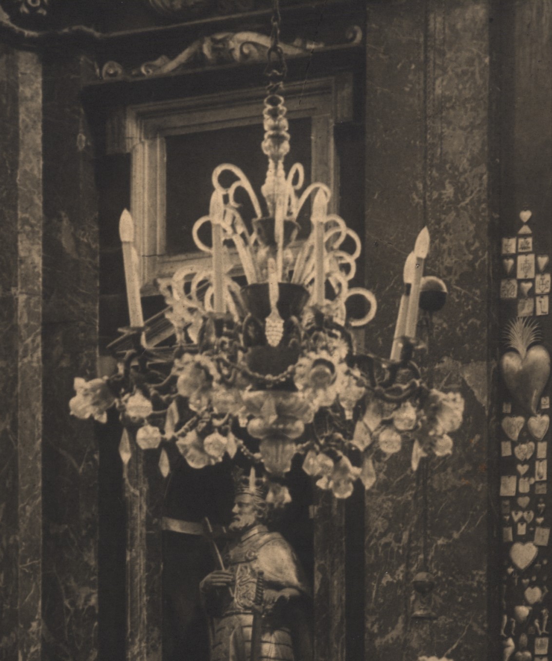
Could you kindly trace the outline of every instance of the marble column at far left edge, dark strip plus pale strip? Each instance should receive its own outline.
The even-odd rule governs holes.
[[[0,655],[41,658],[42,66],[0,54]]]

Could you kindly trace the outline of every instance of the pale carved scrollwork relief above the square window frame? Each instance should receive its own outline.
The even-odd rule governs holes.
[[[359,44],[362,40],[362,30],[353,26],[347,30],[345,42]],[[217,32],[211,36],[201,37],[178,54],[175,58],[162,55],[153,61],[147,61],[140,67],[125,71],[115,61],[108,61],[102,68],[104,80],[123,77],[143,77],[172,73],[186,67],[213,66],[231,63],[266,61],[270,38],[259,32]],[[293,44],[281,44],[284,54],[288,57],[312,53],[324,48],[322,42],[296,39]]]

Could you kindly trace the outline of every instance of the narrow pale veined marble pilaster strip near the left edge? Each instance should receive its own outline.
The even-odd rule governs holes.
[[[42,633],[42,65],[26,52],[17,65],[18,640],[19,658],[34,661]]]

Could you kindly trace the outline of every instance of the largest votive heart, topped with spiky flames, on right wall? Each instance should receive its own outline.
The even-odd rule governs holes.
[[[500,371],[516,402],[536,414],[537,405],[550,376],[550,354],[539,340],[534,320],[512,319],[506,329],[507,347],[500,358]]]

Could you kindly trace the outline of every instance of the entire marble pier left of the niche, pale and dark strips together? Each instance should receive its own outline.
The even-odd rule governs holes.
[[[96,371],[83,59],[0,52],[0,656],[97,656],[97,451],[69,418]]]

